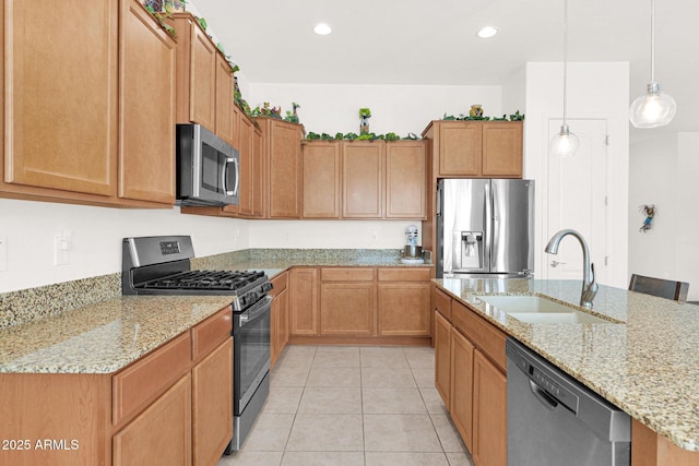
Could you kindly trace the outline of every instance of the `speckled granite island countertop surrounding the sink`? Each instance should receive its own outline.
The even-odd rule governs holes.
[[[699,306],[600,286],[591,313],[618,323],[528,324],[477,296],[546,296],[578,307],[581,282],[435,282],[651,430],[699,451]]]

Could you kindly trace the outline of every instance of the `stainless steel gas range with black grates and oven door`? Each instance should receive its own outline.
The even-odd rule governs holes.
[[[234,343],[234,437],[239,450],[270,393],[272,289],[264,272],[192,271],[189,236],[125,238],[123,295],[217,295],[232,297]]]

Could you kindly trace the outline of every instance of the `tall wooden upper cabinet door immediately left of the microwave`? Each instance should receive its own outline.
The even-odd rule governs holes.
[[[175,41],[123,1],[119,52],[119,198],[174,204]]]

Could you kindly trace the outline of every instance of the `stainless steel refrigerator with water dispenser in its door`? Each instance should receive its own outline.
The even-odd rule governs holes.
[[[438,277],[531,278],[534,181],[440,180],[436,261]]]

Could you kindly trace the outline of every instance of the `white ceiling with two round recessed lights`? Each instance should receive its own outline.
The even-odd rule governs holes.
[[[561,61],[561,0],[191,0],[251,83],[499,85],[528,61]],[[628,61],[629,101],[650,81],[650,0],[568,0],[568,60]],[[657,0],[655,79],[677,100],[662,129],[699,131],[696,0]],[[313,34],[318,22],[333,33]],[[493,25],[499,34],[479,39]],[[695,110],[692,110],[695,109]]]

